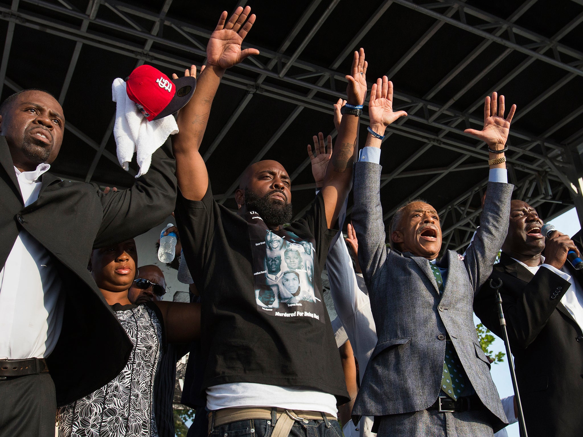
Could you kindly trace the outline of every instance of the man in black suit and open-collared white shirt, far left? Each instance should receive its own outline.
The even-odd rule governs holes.
[[[87,270],[89,255],[160,224],[176,198],[168,145],[125,191],[48,173],[62,114],[40,90],[0,106],[0,437],[54,436],[57,405],[124,368],[132,343]]]

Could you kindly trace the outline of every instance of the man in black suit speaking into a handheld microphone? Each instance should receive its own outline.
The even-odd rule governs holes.
[[[491,278],[503,281],[500,294],[529,436],[574,437],[583,432],[583,276],[566,262],[570,249],[578,253],[574,242],[560,232],[545,241],[542,224],[528,203],[512,200],[508,235]],[[474,310],[501,336],[488,282]]]

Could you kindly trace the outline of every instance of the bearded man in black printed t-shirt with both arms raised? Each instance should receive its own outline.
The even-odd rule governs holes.
[[[223,12],[209,40],[208,64],[178,114],[180,133],[173,138],[180,186],[175,216],[201,294],[209,434],[287,436],[316,428],[318,435],[338,437],[336,404],[349,399],[320,273],[350,191],[360,109],[342,117],[333,153],[329,147],[332,156],[324,151],[312,159],[312,166],[327,168],[317,181],[321,191],[300,219],[291,221],[291,179],[277,161],[259,161],[244,171],[235,196],[238,213],[215,202],[199,146],[224,70],[258,53],[241,51],[255,21],[250,10],[237,8],[228,22]],[[363,104],[366,68],[364,50],[354,52],[347,108]],[[322,136],[320,145],[325,149]],[[286,252],[293,259],[286,260]],[[288,288],[297,296],[290,298],[282,277],[268,276],[276,273],[267,267],[274,256],[278,274],[290,272]]]

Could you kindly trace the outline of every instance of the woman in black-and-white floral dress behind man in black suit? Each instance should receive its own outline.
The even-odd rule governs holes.
[[[128,290],[138,276],[137,265],[134,239],[92,252],[93,278],[134,348],[118,376],[59,409],[59,437],[158,435],[152,393],[160,356],[166,341],[190,343],[198,339],[200,305],[166,301],[131,304]]]

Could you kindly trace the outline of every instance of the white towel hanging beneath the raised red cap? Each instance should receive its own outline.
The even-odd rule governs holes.
[[[129,99],[125,82],[119,77],[111,84],[115,108],[113,136],[117,145],[117,159],[124,170],[128,170],[134,151],[140,171],[136,178],[146,174],[152,162],[152,153],[164,144],[169,135],[178,133],[173,115],[159,120],[147,121],[136,104]]]

